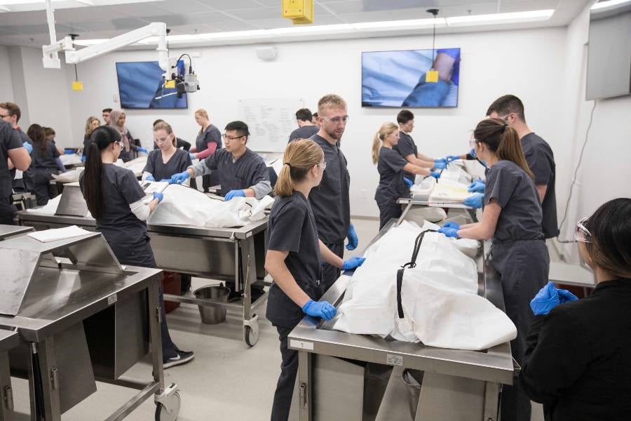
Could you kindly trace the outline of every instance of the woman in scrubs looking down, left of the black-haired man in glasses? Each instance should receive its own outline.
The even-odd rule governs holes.
[[[149,152],[142,180],[170,180],[174,173],[181,173],[192,165],[188,152],[176,147],[175,135],[170,124],[159,121],[154,125],[154,143],[158,149]]]

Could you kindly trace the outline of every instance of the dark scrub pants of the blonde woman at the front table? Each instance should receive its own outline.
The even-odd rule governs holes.
[[[280,377],[276,383],[274,401],[272,404],[271,421],[287,421],[290,408],[292,407],[292,396],[294,385],[298,375],[298,352],[287,348],[287,336],[293,328],[274,326],[278,330],[280,340],[280,356],[283,362],[280,364]]]

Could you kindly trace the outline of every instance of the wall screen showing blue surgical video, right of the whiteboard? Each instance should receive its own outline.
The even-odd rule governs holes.
[[[460,48],[363,52],[362,107],[457,107],[459,76]]]

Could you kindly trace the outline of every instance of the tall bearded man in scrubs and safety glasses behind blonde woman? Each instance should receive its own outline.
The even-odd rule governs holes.
[[[309,203],[313,208],[320,240],[339,258],[344,257],[344,239],[348,238],[347,250],[355,250],[358,246],[357,232],[351,224],[351,175],[346,168],[346,156],[338,146],[346,121],[346,101],[338,95],[325,95],[318,101],[320,131],[310,138],[323,149],[328,170],[320,186],[311,192]],[[339,274],[337,267],[324,266],[324,290],[333,285]]]

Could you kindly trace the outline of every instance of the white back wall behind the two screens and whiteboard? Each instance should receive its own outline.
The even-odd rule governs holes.
[[[419,149],[433,156],[468,152],[470,131],[491,102],[505,93],[524,100],[529,123],[553,149],[566,145],[562,126],[550,118],[550,110],[562,108],[565,41],[565,28],[438,36],[437,48],[462,48],[459,107],[414,110]],[[191,48],[202,54],[194,59],[201,91],[189,95],[189,109],[128,110],[128,126],[145,147],[151,145],[151,122],[158,117],[172,123],[179,137],[194,140],[198,127],[193,112],[198,107],[207,109],[212,121],[223,128],[237,118],[241,98],[303,98],[315,111],[320,96],[338,93],[348,102],[351,117],[342,140],[351,171],[351,212],[376,216],[373,196],[379,176],[370,159],[372,137],[381,123],[395,121],[399,109],[361,107],[361,52],[428,46],[430,36],[279,44],[273,62],[258,60],[255,46]],[[84,91],[69,95],[77,145],[86,118],[117,105],[115,63],[155,58],[153,51],[123,51],[79,66]],[[68,83],[73,77],[67,72]]]

